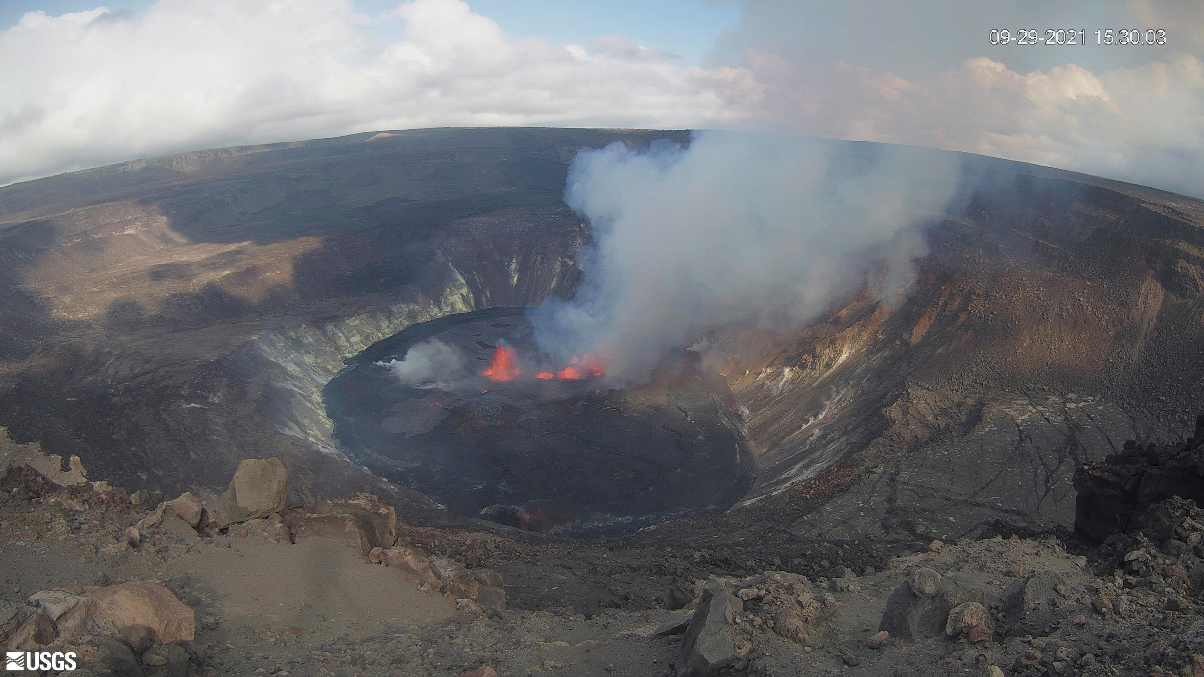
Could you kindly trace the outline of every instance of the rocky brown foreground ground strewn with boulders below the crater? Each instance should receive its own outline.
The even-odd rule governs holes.
[[[26,455],[0,479],[0,641],[76,652],[72,675],[1200,677],[1204,511],[1156,490],[1202,467],[1200,423],[1081,469],[1080,540],[816,549],[759,571],[667,547],[662,576],[560,591],[566,551],[633,578],[653,551],[413,526],[367,494],[287,505],[275,459],[165,502]],[[1146,490],[1125,493],[1133,477]],[[1105,534],[1087,517],[1109,506],[1125,518]]]

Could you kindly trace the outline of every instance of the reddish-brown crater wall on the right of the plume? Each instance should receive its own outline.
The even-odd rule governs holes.
[[[832,500],[792,529],[826,538],[1069,530],[1079,465],[1167,440],[1204,396],[1199,206],[1153,198],[984,183],[936,219],[901,302],[720,332],[759,459],[750,499],[822,487]]]

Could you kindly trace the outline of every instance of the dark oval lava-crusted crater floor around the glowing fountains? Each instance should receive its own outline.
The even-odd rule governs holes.
[[[415,346],[443,363],[403,382],[390,364]],[[503,382],[482,373],[500,346],[519,360]],[[589,375],[535,378],[539,365],[525,361],[535,354],[523,308],[449,316],[379,341],[324,390],[341,451],[454,513],[573,536],[721,512],[751,487],[731,395],[696,353],[673,354],[651,383],[621,390]]]

